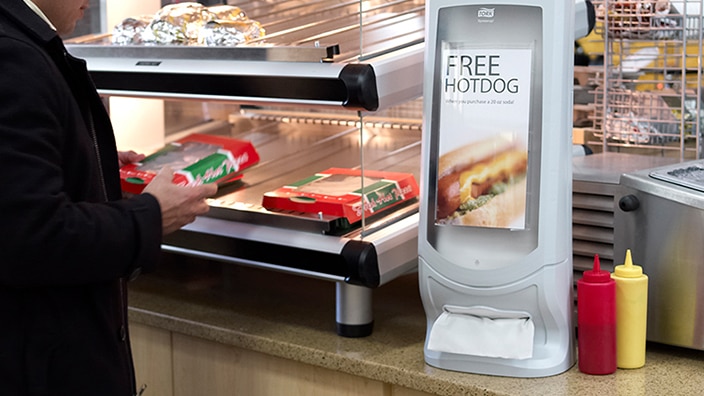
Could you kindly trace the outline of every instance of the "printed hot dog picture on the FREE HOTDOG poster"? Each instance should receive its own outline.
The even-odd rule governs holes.
[[[511,228],[525,220],[527,167],[525,145],[502,135],[442,154],[436,222]]]

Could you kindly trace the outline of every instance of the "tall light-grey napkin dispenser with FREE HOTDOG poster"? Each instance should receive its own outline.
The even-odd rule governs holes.
[[[540,377],[575,362],[575,4],[426,2],[425,361]]]

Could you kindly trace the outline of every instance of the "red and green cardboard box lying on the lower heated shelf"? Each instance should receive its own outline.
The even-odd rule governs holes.
[[[264,194],[269,210],[292,210],[346,218],[350,224],[398,206],[418,196],[410,173],[330,168]]]

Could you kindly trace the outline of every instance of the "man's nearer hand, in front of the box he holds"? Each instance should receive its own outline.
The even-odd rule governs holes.
[[[142,194],[152,194],[159,201],[164,235],[192,223],[196,216],[207,213],[210,207],[205,198],[212,197],[218,191],[215,183],[178,186],[171,182],[173,177],[173,170],[164,168],[142,191]]]

